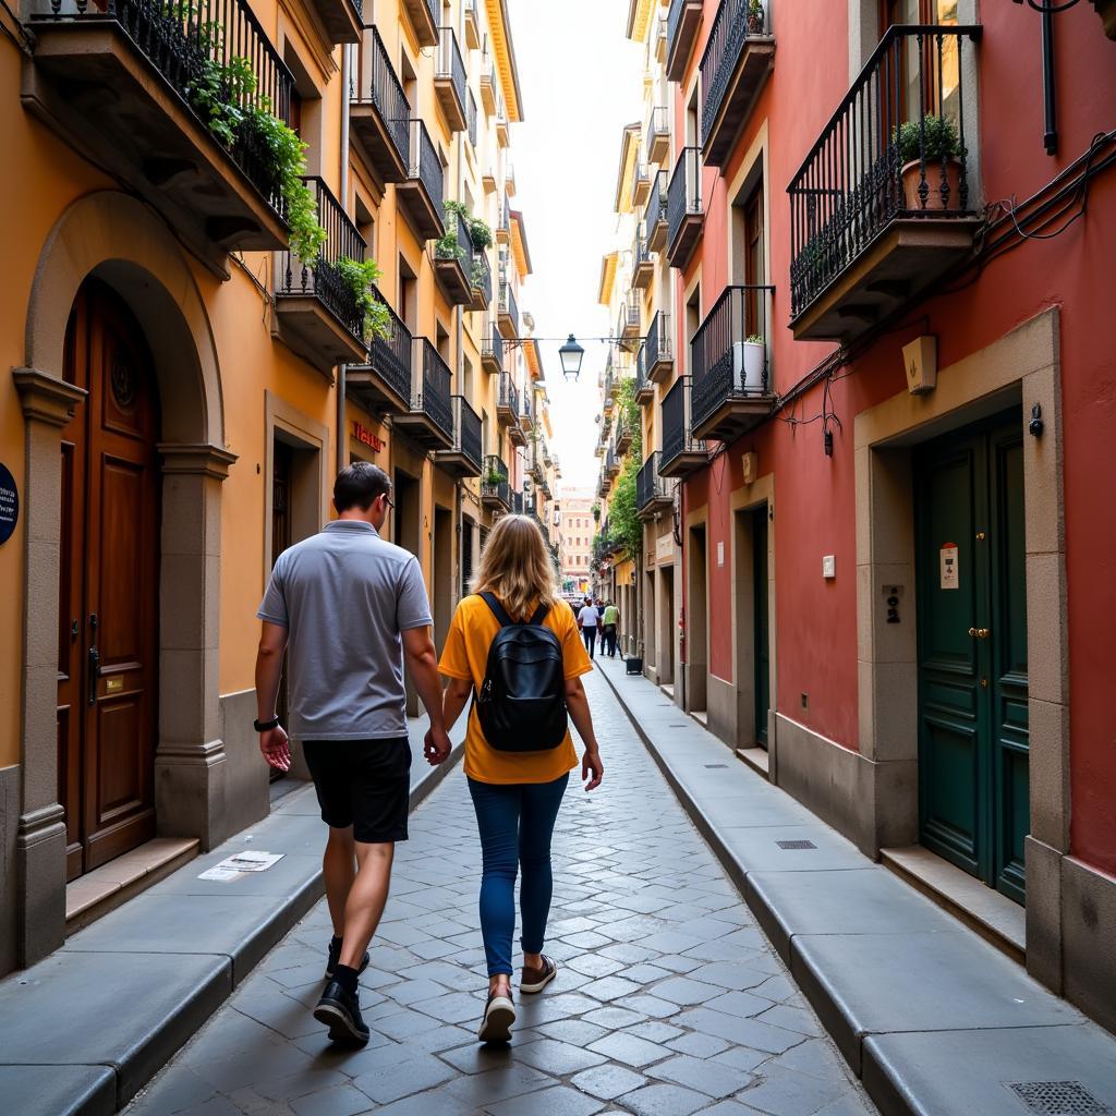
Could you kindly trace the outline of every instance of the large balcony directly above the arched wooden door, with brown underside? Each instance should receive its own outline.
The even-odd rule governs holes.
[[[215,276],[228,278],[230,251],[287,247],[286,203],[254,109],[263,95],[289,121],[295,81],[247,0],[30,7],[41,10],[27,16],[36,46],[25,108],[158,210]],[[221,140],[198,88],[233,55],[248,60],[254,92],[246,83],[233,94],[237,118],[222,122]]]

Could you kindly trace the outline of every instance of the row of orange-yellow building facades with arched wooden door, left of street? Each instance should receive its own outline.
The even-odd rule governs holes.
[[[392,477],[439,639],[511,510],[501,387],[533,402],[541,369],[506,4],[367,2],[3,16],[0,972],[136,886],[123,866],[267,815],[254,610],[339,468]]]

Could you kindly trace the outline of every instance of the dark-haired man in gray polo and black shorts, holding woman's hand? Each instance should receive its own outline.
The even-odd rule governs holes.
[[[289,656],[290,739],[300,741],[329,826],[323,859],[334,937],[316,1019],[329,1037],[365,1043],[357,979],[387,902],[395,843],[407,839],[411,745],[403,661],[430,718],[425,754],[450,753],[433,619],[414,555],[379,537],[392,507],[382,469],[355,462],[334,484],[338,519],[278,558],[257,616],[260,751],[290,768],[276,716]]]

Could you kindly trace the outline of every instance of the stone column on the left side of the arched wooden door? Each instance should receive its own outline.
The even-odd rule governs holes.
[[[16,837],[17,956],[66,939],[66,821],[58,801],[58,580],[61,432],[86,393],[36,368],[12,373],[26,419],[22,804]]]

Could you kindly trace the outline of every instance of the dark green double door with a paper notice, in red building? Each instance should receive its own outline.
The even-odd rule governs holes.
[[[915,458],[922,843],[1022,903],[1027,585],[1018,412]]]

